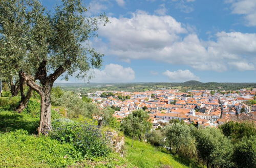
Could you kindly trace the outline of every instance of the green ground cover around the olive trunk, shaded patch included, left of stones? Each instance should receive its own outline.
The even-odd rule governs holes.
[[[35,136],[38,122],[29,114],[0,107],[0,167],[134,167],[116,153],[79,160],[72,145]]]

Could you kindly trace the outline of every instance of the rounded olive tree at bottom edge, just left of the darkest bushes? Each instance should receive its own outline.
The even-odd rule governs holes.
[[[207,167],[232,167],[231,141],[217,128],[200,128],[195,131],[199,157]]]

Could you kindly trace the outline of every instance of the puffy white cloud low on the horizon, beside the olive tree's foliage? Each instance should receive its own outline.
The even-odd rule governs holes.
[[[135,72],[132,68],[124,68],[121,65],[109,64],[105,69],[94,69],[92,82],[128,82],[135,79]]]

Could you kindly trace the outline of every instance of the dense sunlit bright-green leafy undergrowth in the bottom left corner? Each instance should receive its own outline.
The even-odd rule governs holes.
[[[76,149],[25,130],[0,134],[0,167],[64,167],[80,160]]]

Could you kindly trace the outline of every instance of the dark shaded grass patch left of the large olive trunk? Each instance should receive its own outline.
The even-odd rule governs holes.
[[[0,110],[0,132],[9,132],[17,129],[27,130],[36,134],[39,120],[26,114],[17,114],[15,111]]]

